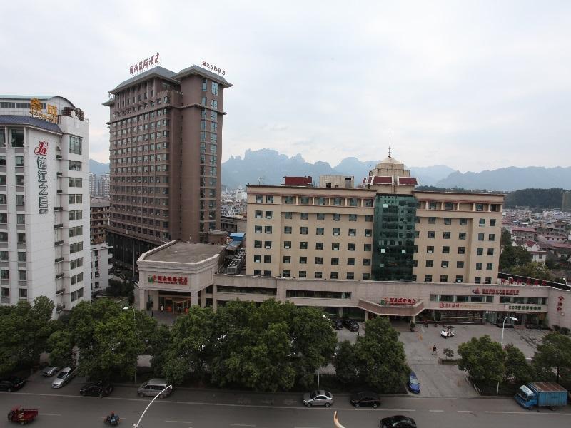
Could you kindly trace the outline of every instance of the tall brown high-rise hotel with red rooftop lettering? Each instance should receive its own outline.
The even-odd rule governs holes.
[[[169,240],[199,243],[220,228],[223,93],[218,73],[157,66],[109,91],[114,263],[133,268]]]

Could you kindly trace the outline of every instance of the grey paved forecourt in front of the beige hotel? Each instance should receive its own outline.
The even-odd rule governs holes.
[[[399,339],[405,346],[408,365],[420,381],[420,397],[478,397],[473,387],[466,382],[466,372],[458,370],[457,365],[438,364],[438,358],[444,357],[445,348],[453,350],[454,357],[457,358],[458,345],[472,337],[490,335],[492,340],[500,342],[501,328],[490,324],[455,325],[455,337],[447,339],[440,336],[441,325],[417,325],[415,332],[410,332],[408,323],[405,322],[394,322],[393,326],[400,332]],[[525,357],[531,358],[545,334],[540,330],[527,330],[519,326],[515,329],[506,328],[503,343],[512,343],[522,350]],[[434,345],[437,355],[433,355]]]

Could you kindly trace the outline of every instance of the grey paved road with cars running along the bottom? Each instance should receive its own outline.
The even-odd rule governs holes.
[[[132,427],[150,399],[138,398],[134,387],[116,387],[110,397],[80,397],[81,382],[49,389],[48,382],[29,382],[19,392],[1,392],[0,408],[6,412],[18,404],[39,409],[34,425],[47,428],[103,427],[103,417],[113,410],[123,427]],[[253,394],[217,390],[176,390],[158,399],[140,427],[148,428],[326,428],[333,427],[338,410],[346,428],[378,427],[380,418],[406,414],[424,428],[521,428],[571,426],[571,408],[526,411],[512,399],[434,399],[385,397],[378,409],[354,409],[347,395],[338,395],[330,409],[306,408],[299,394]],[[272,402],[273,400],[273,402]]]

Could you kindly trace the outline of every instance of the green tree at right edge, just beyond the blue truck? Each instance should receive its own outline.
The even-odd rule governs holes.
[[[555,370],[555,382],[559,382],[560,374],[571,373],[571,337],[560,332],[550,332],[543,337],[541,345],[533,355],[532,364],[542,379],[551,380]]]

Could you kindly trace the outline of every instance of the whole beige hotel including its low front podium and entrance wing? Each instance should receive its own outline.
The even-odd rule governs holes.
[[[246,243],[173,240],[144,253],[141,309],[273,298],[358,320],[571,326],[570,287],[498,274],[504,195],[416,184],[389,156],[358,188],[338,176],[249,185]]]

